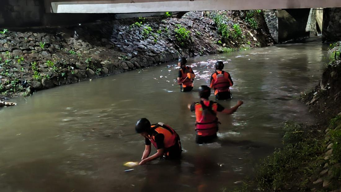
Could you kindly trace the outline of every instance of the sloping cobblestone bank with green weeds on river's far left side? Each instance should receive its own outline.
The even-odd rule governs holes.
[[[259,11],[189,12],[0,33],[0,99],[173,61],[272,45]]]

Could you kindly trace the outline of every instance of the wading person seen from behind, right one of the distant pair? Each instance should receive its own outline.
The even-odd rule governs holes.
[[[231,75],[223,71],[224,63],[218,61],[216,63],[216,72],[211,76],[210,87],[214,89],[214,95],[217,100],[231,99],[229,87],[233,85]]]

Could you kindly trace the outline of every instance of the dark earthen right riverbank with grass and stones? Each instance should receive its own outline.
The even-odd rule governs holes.
[[[320,83],[301,94],[316,124],[286,122],[284,147],[265,158],[255,177],[235,191],[341,191],[340,45],[331,45]]]

